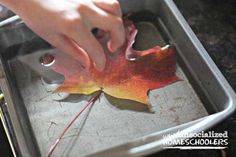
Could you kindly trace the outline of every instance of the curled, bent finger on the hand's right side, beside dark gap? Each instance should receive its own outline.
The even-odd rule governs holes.
[[[91,25],[102,30],[108,31],[111,40],[108,42],[108,48],[114,52],[121,47],[125,41],[125,29],[121,17],[106,13],[100,8],[94,8],[96,13],[89,16]]]

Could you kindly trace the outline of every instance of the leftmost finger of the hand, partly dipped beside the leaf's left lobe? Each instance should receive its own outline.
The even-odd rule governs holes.
[[[73,40],[69,39],[64,35],[58,35],[54,38],[50,43],[53,46],[60,49],[62,52],[72,56],[74,59],[78,60],[83,67],[88,69],[90,67],[90,59],[89,56],[81,49],[78,45],[74,43]]]

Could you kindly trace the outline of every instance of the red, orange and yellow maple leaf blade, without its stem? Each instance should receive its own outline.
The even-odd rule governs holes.
[[[107,48],[109,34],[99,31],[97,39],[103,45],[107,62],[100,72],[91,66],[85,70],[80,63],[65,53],[55,54],[52,68],[64,75],[63,84],[56,90],[73,94],[91,94],[102,90],[119,99],[128,99],[148,104],[148,91],[176,82],[175,50],[156,46],[145,51],[132,48],[137,29],[130,21],[125,21],[126,43],[110,53]]]

